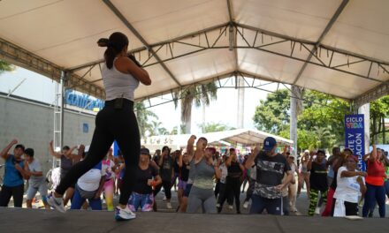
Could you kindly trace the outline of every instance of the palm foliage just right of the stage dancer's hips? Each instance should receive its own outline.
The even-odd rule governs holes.
[[[141,138],[146,138],[146,132],[154,132],[153,125],[149,123],[150,118],[158,119],[158,116],[149,109],[145,109],[143,102],[137,102],[134,106],[134,111],[136,113],[136,118],[138,120],[139,132]]]

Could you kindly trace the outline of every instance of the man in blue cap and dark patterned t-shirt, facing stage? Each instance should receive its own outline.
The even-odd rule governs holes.
[[[276,152],[277,141],[267,137],[263,141],[263,150],[256,147],[246,162],[246,169],[255,166],[256,184],[252,196],[250,214],[262,214],[266,209],[268,214],[281,215],[283,209],[282,189],[292,180],[293,174],[282,154]],[[287,174],[286,179],[283,178]],[[288,205],[288,203],[284,203]]]

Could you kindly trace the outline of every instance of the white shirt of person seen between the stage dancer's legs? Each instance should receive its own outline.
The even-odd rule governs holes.
[[[100,179],[105,176],[105,170],[102,169],[102,162],[99,162],[93,169],[88,170],[77,181],[77,185],[84,191],[96,191],[100,185]]]

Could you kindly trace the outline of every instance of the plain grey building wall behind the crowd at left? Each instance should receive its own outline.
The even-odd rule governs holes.
[[[64,145],[89,145],[95,130],[95,116],[65,110],[64,117]],[[18,139],[25,147],[34,148],[34,157],[42,163],[44,173],[52,166],[48,148],[53,139],[53,124],[54,109],[49,105],[0,95],[0,149],[11,139]],[[88,124],[88,132],[83,132],[83,124]],[[0,160],[0,164],[3,163]],[[3,175],[4,170],[0,173]]]

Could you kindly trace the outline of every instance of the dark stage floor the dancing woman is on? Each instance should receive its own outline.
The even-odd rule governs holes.
[[[138,213],[131,222],[115,222],[112,212],[0,208],[0,232],[185,232],[185,233],[380,233],[387,219],[351,221],[344,218],[251,214]]]

